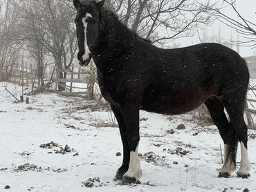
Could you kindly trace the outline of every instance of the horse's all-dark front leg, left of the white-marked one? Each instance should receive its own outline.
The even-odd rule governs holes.
[[[111,109],[113,114],[118,121],[119,131],[122,140],[122,148],[123,148],[123,159],[122,159],[122,166],[116,172],[116,176],[113,177],[113,180],[122,180],[122,176],[128,171],[129,168],[129,160],[130,160],[130,153],[129,153],[129,144],[127,140],[127,131],[125,128],[125,119],[122,115],[120,109],[116,108],[116,106],[111,105]]]

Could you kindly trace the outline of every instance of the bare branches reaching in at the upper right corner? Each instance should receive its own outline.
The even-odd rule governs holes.
[[[223,12],[223,8],[226,8],[226,6],[232,8],[232,11],[237,15],[236,18],[226,15]],[[241,35],[242,40],[232,41],[233,44],[256,48],[256,23],[249,21],[240,14],[236,8],[236,0],[223,0],[221,8],[216,8],[215,11],[218,13],[218,19],[222,23],[235,29]]]

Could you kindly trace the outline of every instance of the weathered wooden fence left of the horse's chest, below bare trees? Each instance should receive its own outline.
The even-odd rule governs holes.
[[[75,71],[76,70],[76,71]],[[42,73],[42,78],[39,77],[39,71]],[[65,73],[66,78],[58,78],[58,74]],[[98,86],[96,84],[95,69],[91,65],[86,69],[75,68],[58,70],[55,63],[45,64],[44,68],[33,67],[32,64],[21,63],[16,64],[10,73],[10,81],[19,86],[24,86],[22,90],[28,86],[32,87],[32,92],[39,88],[39,90],[55,90],[57,92],[58,86],[64,88],[62,95],[84,95],[86,97],[94,98]],[[53,87],[55,83],[55,87]],[[34,93],[34,92],[33,92]],[[60,93],[60,92],[58,92]]]

